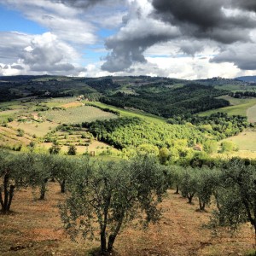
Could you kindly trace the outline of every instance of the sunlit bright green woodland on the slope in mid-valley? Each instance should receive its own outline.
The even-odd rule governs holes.
[[[207,118],[190,116],[183,119],[169,119],[168,124],[155,124],[137,118],[119,118],[109,121],[83,123],[98,140],[115,148],[137,148],[142,144],[152,144],[158,148],[172,148],[177,140],[185,140],[186,146],[204,144],[208,140],[219,141],[243,131],[248,126],[247,119],[228,116],[224,113],[212,114]],[[174,125],[173,123],[176,123]]]

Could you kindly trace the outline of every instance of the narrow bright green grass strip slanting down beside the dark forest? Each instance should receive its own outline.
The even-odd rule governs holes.
[[[107,104],[104,104],[102,102],[88,102],[89,104],[93,104],[96,107],[100,107],[100,108],[109,108],[112,109],[114,111],[119,111],[120,115],[122,117],[138,117],[141,119],[145,119],[148,120],[149,122],[161,122],[161,123],[166,123],[166,119],[158,117],[154,114],[150,114],[150,113],[145,113],[143,111],[140,111],[138,109],[124,109],[124,108],[117,108],[117,107],[113,107]],[[86,102],[85,102],[86,104]]]

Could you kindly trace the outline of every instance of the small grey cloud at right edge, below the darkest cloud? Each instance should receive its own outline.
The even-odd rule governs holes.
[[[211,62],[231,62],[242,70],[256,70],[255,44],[233,45],[212,58]]]

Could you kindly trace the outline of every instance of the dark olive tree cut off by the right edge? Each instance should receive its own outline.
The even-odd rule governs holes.
[[[245,161],[232,159],[222,168],[217,207],[212,220],[217,226],[236,230],[239,224],[253,226],[256,245],[256,168]]]

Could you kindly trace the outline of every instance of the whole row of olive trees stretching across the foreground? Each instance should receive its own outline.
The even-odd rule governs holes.
[[[147,226],[160,218],[158,203],[172,187],[189,203],[197,198],[202,212],[214,204],[214,229],[225,225],[236,229],[249,222],[256,239],[254,164],[232,159],[218,161],[214,167],[162,166],[147,154],[101,162],[88,157],[0,151],[0,203],[2,212],[9,212],[15,191],[27,186],[39,188],[39,199],[44,200],[47,184],[54,178],[62,193],[68,191],[60,209],[69,235],[93,238],[100,230],[101,251],[110,253],[125,224],[132,220]]]

